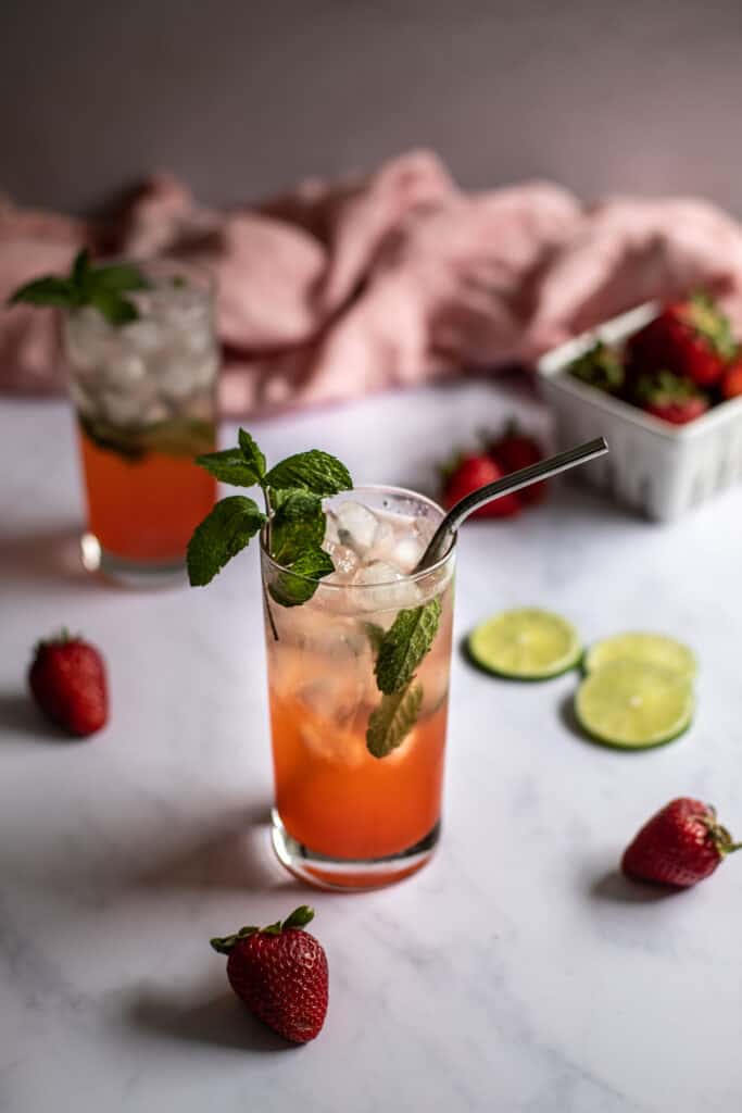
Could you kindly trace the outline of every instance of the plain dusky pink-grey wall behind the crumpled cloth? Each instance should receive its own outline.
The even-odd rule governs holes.
[[[741,48],[741,0],[6,0],[0,189],[83,210],[162,166],[229,201],[426,145],[742,213]]]

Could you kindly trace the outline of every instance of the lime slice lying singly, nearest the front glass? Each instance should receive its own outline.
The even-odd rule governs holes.
[[[575,628],[558,614],[526,607],[503,611],[473,630],[474,661],[514,680],[547,680],[573,669],[582,656]]]

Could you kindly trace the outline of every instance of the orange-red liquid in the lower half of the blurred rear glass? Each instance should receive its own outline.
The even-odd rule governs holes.
[[[150,451],[129,460],[82,430],[79,439],[88,528],[101,548],[142,563],[184,560],[194,529],[214,505],[216,481],[187,455]]]

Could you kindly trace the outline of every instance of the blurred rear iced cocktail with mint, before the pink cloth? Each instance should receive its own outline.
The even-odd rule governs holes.
[[[218,349],[214,292],[180,263],[93,266],[47,276],[14,301],[62,309],[78,417],[89,568],[135,582],[182,574],[182,555],[214,505],[194,456],[215,447]]]

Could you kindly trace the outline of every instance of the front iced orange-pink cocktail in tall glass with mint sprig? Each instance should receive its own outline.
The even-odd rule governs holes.
[[[395,487],[356,487],[321,452],[267,470],[253,439],[200,457],[261,487],[217,503],[188,551],[207,583],[259,534],[281,863],[316,885],[372,888],[435,848],[453,626],[452,549],[415,573],[443,511]]]

